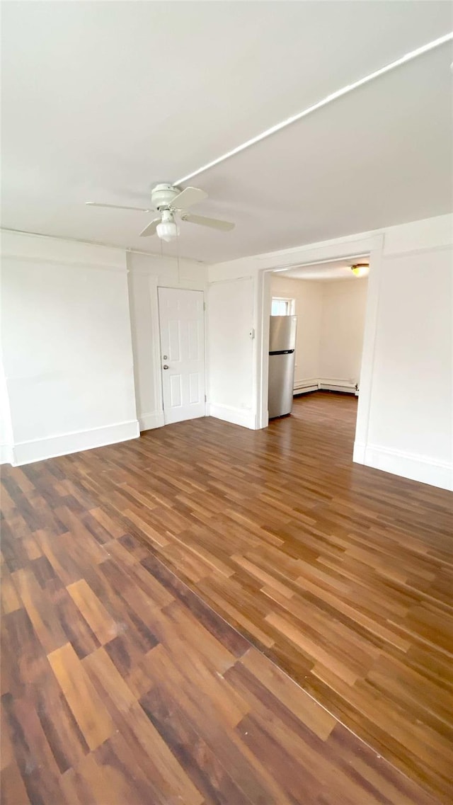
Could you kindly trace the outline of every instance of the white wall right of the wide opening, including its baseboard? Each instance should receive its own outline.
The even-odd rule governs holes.
[[[385,238],[368,422],[355,457],[453,489],[453,249],[422,241],[414,250],[420,232],[410,227],[406,246],[403,227]]]

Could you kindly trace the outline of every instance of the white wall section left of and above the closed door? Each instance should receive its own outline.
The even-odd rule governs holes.
[[[134,378],[140,430],[163,425],[161,360],[159,346],[158,287],[204,291],[203,263],[150,254],[127,254],[130,324],[134,350]]]

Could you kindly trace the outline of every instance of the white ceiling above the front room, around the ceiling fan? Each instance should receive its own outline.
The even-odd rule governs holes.
[[[2,225],[159,252],[176,180],[453,28],[448,2],[3,2]],[[179,251],[216,262],[451,209],[451,48],[196,177]],[[163,245],[175,254],[175,244]]]

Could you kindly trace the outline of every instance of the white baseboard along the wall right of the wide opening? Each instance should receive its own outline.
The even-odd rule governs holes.
[[[357,442],[354,444],[353,460],[385,473],[453,491],[453,464],[448,461],[435,461],[417,453]]]

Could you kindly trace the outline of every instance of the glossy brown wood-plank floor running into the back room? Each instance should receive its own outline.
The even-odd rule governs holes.
[[[453,496],[355,415],[2,468],[3,803],[451,803]]]

